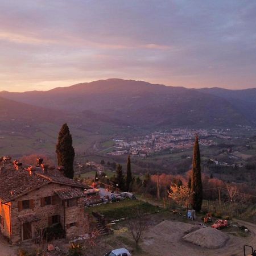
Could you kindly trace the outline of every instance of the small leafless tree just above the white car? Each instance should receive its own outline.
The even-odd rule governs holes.
[[[135,209],[135,216],[128,222],[131,235],[136,243],[136,249],[138,249],[139,240],[148,226],[148,221],[148,217],[143,214],[142,210],[137,208]]]

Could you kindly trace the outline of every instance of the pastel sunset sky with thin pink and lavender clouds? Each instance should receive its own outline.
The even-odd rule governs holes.
[[[254,0],[0,0],[0,90],[121,78],[256,87]]]

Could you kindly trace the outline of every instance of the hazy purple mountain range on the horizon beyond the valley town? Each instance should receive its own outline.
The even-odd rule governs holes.
[[[108,79],[47,92],[1,92],[0,96],[118,125],[150,128],[255,125],[256,115],[246,109],[254,106],[256,90],[244,91],[236,94],[237,91],[220,88],[196,90]]]

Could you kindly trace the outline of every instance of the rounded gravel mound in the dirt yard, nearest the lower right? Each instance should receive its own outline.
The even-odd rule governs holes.
[[[183,240],[204,248],[216,249],[224,246],[229,237],[220,230],[208,227],[185,235]]]

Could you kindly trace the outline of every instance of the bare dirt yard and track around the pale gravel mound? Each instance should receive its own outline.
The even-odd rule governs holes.
[[[166,222],[160,226],[160,229],[148,229],[143,239],[142,248],[147,252],[147,256],[242,256],[243,245],[256,246],[256,225],[245,221],[236,221],[249,228],[251,236],[244,238],[229,235],[228,242],[220,249],[205,249],[183,241],[184,232],[191,228],[191,224],[183,222],[173,222],[170,225]]]

